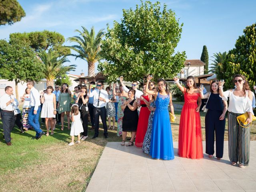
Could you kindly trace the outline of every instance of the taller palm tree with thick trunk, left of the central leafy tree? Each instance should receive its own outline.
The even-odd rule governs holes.
[[[75,56],[76,59],[80,58],[88,63],[88,76],[93,76],[95,71],[95,63],[102,58],[101,54],[101,40],[104,36],[103,29],[101,29],[95,36],[94,27],[92,26],[91,32],[82,26],[82,32],[75,30],[79,36],[70,37],[67,40],[77,43],[73,46],[68,46],[70,49],[77,52],[77,54],[70,54]]]

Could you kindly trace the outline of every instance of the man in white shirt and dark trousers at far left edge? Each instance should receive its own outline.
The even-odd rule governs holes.
[[[0,108],[1,108],[1,118],[3,122],[4,129],[4,140],[8,146],[12,145],[11,143],[11,131],[14,127],[14,109],[13,104],[14,98],[12,97],[13,89],[11,86],[5,87],[5,94],[0,98]]]

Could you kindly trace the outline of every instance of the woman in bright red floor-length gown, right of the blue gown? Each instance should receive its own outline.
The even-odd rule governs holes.
[[[203,158],[202,131],[199,113],[202,104],[200,92],[196,87],[193,76],[188,76],[186,88],[180,85],[178,78],[174,78],[174,81],[183,92],[185,100],[180,115],[178,155],[192,159]]]

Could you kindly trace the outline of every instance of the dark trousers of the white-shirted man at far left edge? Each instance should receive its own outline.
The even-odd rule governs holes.
[[[4,129],[4,140],[6,143],[11,142],[11,131],[14,127],[14,112],[5,112],[1,110],[1,118],[3,122],[3,129]]]

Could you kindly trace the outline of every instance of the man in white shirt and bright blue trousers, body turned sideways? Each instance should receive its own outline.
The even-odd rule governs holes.
[[[28,124],[30,124],[36,131],[36,139],[40,139],[45,132],[40,129],[39,114],[41,110],[40,106],[40,94],[36,88],[34,88],[34,81],[28,81],[27,87],[30,88],[30,110],[28,112]]]

